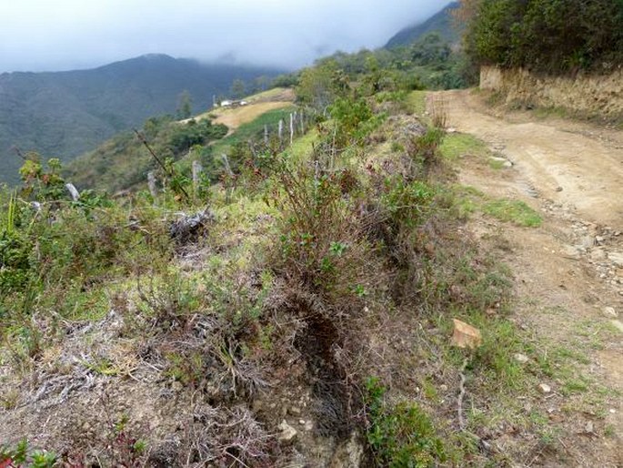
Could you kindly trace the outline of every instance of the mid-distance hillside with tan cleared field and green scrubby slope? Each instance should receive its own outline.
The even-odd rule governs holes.
[[[141,133],[163,161],[170,158],[187,168],[190,158],[197,159],[209,173],[209,168],[222,168],[214,155],[231,155],[237,144],[262,136],[266,125],[275,127],[279,119],[286,120],[294,94],[291,89],[274,88],[246,97],[246,101],[243,107],[218,107],[181,121],[169,116],[152,117]],[[71,161],[65,176],[79,189],[114,193],[144,186],[147,172],[157,168],[156,160],[136,135],[123,132]],[[215,174],[213,171],[207,175],[214,178]]]

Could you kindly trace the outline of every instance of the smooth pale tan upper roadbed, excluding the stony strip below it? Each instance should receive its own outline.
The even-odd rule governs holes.
[[[485,140],[515,164],[538,194],[592,222],[623,230],[623,132],[564,120],[527,121],[528,113],[492,116],[479,97],[444,95],[449,123]]]

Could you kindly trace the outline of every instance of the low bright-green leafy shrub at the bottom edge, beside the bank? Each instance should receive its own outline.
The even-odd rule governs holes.
[[[367,443],[378,466],[428,468],[446,460],[433,423],[416,403],[386,402],[387,389],[374,377],[366,390]]]

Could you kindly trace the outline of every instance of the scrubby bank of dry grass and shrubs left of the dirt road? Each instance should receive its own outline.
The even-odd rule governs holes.
[[[457,185],[452,165],[482,164],[487,147],[446,133],[443,102],[424,117],[426,95],[386,81],[374,56],[350,65],[362,57],[357,81],[339,60],[300,76],[308,120],[292,145],[264,127],[294,106],[227,137],[210,119],[147,121],[171,156],[157,197],[141,190],[146,155],[102,179],[132,191],[78,200],[58,161],[27,156],[22,187],[0,191],[0,411],[20,421],[5,460],[39,460],[19,441],[52,417],[44,402],[71,403],[54,413],[71,423],[41,436],[57,453],[41,463],[68,466],[348,451],[362,466],[504,466],[558,448],[538,382],[603,411],[606,390],[575,371],[582,353],[518,326],[502,242],[479,249],[465,226],[479,213],[537,227],[537,212]],[[122,159],[137,143],[107,149]],[[452,319],[482,344],[454,346]],[[508,434],[517,446],[497,450]]]

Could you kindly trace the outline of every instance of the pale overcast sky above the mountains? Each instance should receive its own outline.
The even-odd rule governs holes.
[[[159,53],[298,67],[382,46],[449,0],[0,0],[0,73]]]

